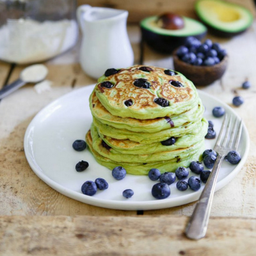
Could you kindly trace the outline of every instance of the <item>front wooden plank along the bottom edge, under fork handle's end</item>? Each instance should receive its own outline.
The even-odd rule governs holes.
[[[0,254],[254,256],[256,219],[211,218],[200,241],[184,236],[184,216],[0,217]]]

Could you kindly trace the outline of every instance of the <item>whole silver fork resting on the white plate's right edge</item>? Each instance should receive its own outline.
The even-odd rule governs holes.
[[[227,156],[228,152],[231,150],[237,150],[239,145],[243,129],[242,120],[240,121],[240,124],[238,123],[239,121],[236,118],[233,129],[231,129],[232,117],[229,117],[227,114],[225,115],[220,134],[213,148],[218,154],[216,162],[186,227],[185,233],[190,239],[198,240],[205,236],[221,163],[223,162],[224,157]]]

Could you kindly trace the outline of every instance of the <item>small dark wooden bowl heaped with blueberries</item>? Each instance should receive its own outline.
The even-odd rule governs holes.
[[[209,39],[201,43],[191,36],[173,52],[174,69],[184,74],[195,86],[209,85],[220,79],[227,64],[227,51]]]

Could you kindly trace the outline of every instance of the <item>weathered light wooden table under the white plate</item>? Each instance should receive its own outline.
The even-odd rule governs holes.
[[[1,255],[256,255],[256,23],[246,33],[220,42],[230,58],[225,76],[200,88],[229,104],[250,133],[250,154],[239,174],[216,192],[207,235],[184,236],[195,202],[156,211],[116,211],[63,196],[38,179],[24,155],[24,133],[32,118],[52,100],[95,83],[78,62],[79,44],[47,61],[48,92],[31,84],[0,102],[0,254]],[[140,30],[129,26],[140,59]],[[145,64],[172,68],[172,56],[145,47]],[[24,67],[0,62],[0,84],[19,77]],[[242,90],[248,79],[252,88]],[[234,95],[244,104],[232,106]]]

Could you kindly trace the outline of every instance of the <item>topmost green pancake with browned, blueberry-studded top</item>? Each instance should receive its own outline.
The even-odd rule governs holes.
[[[165,68],[148,66],[148,71],[143,71],[142,67],[122,68],[116,74],[99,78],[95,93],[112,115],[153,119],[179,115],[198,104],[194,84],[179,72],[173,71],[171,76]],[[165,104],[161,106],[159,100]]]

